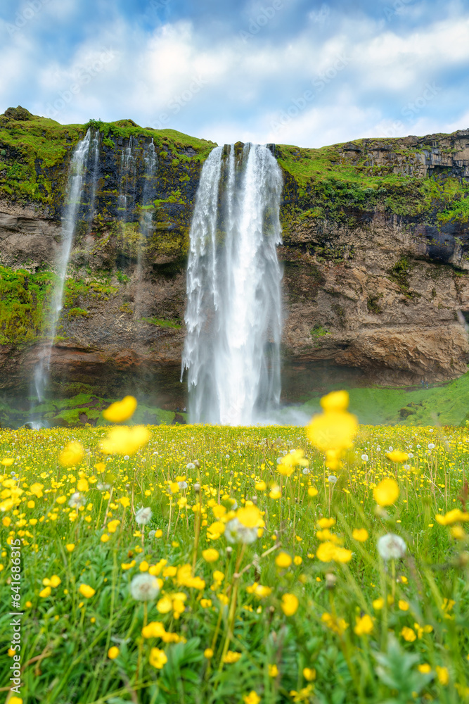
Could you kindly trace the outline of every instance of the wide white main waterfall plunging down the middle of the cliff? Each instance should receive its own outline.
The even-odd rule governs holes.
[[[187,268],[191,422],[251,425],[280,400],[282,175],[258,144],[216,147],[200,177]]]

